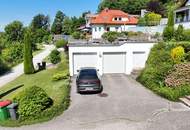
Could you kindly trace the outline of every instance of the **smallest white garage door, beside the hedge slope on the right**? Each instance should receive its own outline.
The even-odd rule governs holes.
[[[145,52],[133,52],[133,69],[142,69],[145,66],[147,55]]]

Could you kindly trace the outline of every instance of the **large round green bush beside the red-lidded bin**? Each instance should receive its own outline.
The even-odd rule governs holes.
[[[35,118],[38,114],[49,108],[53,101],[46,92],[37,86],[28,87],[21,91],[14,101],[19,104],[19,119]]]

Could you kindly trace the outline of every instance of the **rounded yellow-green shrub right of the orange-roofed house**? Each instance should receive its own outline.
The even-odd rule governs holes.
[[[148,26],[155,26],[160,24],[162,16],[153,12],[147,13],[145,15],[146,24]]]

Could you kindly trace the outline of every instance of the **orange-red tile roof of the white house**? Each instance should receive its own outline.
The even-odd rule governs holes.
[[[127,21],[115,21],[114,18],[127,18]],[[96,17],[91,19],[91,24],[113,24],[113,25],[136,25],[138,18],[130,16],[121,10],[104,9]]]

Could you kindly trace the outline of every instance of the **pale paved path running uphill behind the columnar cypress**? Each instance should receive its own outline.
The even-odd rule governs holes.
[[[53,50],[53,49],[54,49],[53,45],[45,45],[44,51],[42,51],[41,53],[34,56],[34,58],[33,58],[34,66],[36,66],[36,64],[38,62],[42,62],[42,60],[46,56],[48,56],[50,54],[51,50]],[[23,63],[22,63],[22,64],[15,66],[14,68],[12,68],[12,70],[9,73],[7,73],[3,76],[0,76],[0,87],[4,86],[5,84],[7,84],[11,81],[13,81],[18,76],[22,75],[24,73],[23,71],[24,70],[23,70]]]

